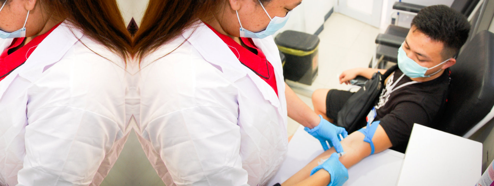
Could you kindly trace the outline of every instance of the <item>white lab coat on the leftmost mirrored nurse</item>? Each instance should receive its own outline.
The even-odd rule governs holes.
[[[0,185],[97,186],[123,148],[124,62],[69,27],[0,81]]]

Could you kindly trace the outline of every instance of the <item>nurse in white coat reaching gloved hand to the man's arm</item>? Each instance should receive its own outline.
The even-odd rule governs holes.
[[[339,145],[336,135],[346,131],[321,119],[286,86],[278,48],[267,36],[300,2],[149,2],[134,37],[143,57],[137,131],[167,186],[266,185],[287,152],[287,115],[324,144]],[[273,71],[261,75],[244,65],[243,48],[228,39],[239,46],[251,41],[269,63],[258,66]]]

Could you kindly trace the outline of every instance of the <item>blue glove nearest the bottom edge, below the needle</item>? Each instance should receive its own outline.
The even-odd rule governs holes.
[[[319,169],[324,169],[329,172],[329,175],[331,175],[331,181],[328,186],[342,186],[348,180],[348,170],[343,164],[341,164],[336,152],[332,153],[331,157],[329,157],[329,159],[323,164],[314,167],[314,169],[310,172],[310,175],[312,176],[314,173],[319,171]]]

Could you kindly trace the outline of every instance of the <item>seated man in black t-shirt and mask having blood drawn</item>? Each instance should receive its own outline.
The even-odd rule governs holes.
[[[375,118],[371,124],[362,123],[367,127],[348,131],[351,134],[341,141],[346,153],[339,161],[345,167],[385,149],[405,152],[414,123],[430,127],[437,123],[449,87],[448,68],[456,63],[454,57],[469,31],[466,17],[445,5],[423,8],[413,18],[405,42],[398,50],[398,65],[389,69],[393,73],[385,79],[385,87],[374,106]],[[348,84],[358,75],[370,79],[377,72],[384,74],[386,70],[350,69],[339,76],[339,81]],[[338,111],[352,94],[318,89],[312,95],[314,110],[334,123]],[[307,179],[318,160],[328,158],[333,152],[334,148],[326,150],[282,185],[290,186]]]

